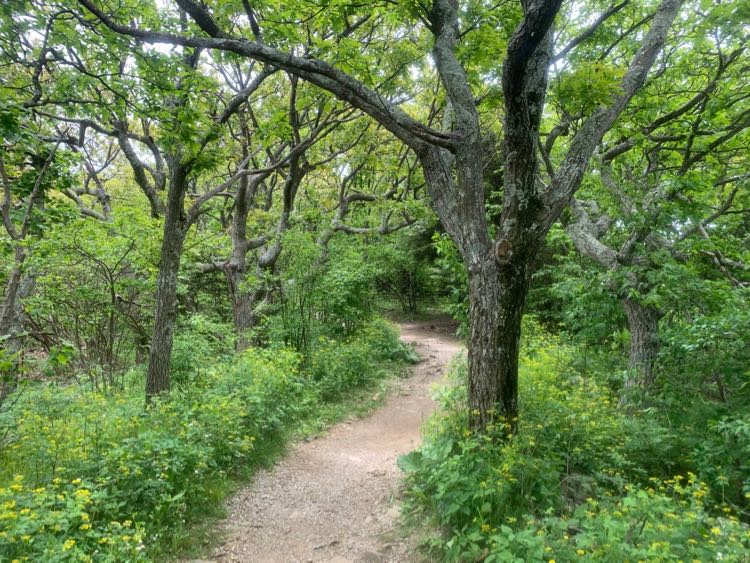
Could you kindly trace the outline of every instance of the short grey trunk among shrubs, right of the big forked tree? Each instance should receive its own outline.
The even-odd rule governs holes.
[[[625,385],[647,388],[654,382],[654,362],[659,353],[659,319],[662,315],[655,307],[641,305],[631,299],[623,299],[622,305],[630,330],[628,366],[632,370]]]

